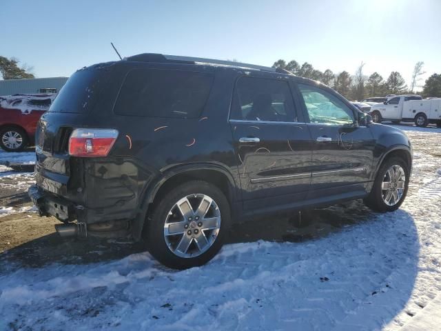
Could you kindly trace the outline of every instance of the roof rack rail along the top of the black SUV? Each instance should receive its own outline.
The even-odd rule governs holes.
[[[256,66],[255,64],[234,62],[234,61],[223,61],[216,59],[205,59],[203,57],[181,57],[179,55],[166,55],[166,54],[155,54],[155,53],[144,53],[133,55],[132,57],[125,57],[126,61],[141,61],[141,62],[177,62],[177,63],[207,63],[207,64],[218,64],[220,66],[234,66],[238,68],[249,68],[255,70],[271,71],[276,72],[276,68]]]

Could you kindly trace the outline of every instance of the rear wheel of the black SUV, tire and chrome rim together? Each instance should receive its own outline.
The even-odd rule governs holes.
[[[173,269],[211,260],[222,248],[231,222],[225,194],[205,181],[188,181],[160,199],[143,234],[150,253]]]

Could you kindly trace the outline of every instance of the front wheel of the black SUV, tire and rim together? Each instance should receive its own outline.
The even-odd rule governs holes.
[[[393,212],[400,208],[408,188],[409,166],[400,157],[391,157],[380,165],[372,190],[364,202],[376,212]]]

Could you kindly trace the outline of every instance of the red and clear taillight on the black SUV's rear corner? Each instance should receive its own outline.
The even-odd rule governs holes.
[[[69,154],[74,157],[105,157],[118,138],[118,130],[75,129],[69,138]]]

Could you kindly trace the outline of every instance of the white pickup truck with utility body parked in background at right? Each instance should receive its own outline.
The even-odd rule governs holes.
[[[381,121],[415,121],[416,126],[427,126],[434,123],[441,127],[441,98],[422,100],[415,94],[396,95],[384,103],[371,107],[370,114],[376,123]]]

